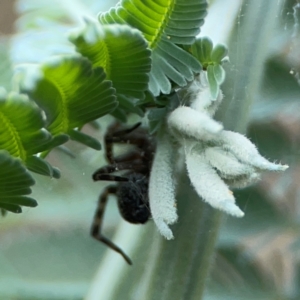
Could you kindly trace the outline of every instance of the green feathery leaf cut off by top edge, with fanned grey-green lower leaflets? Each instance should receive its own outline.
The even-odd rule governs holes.
[[[184,86],[201,65],[179,45],[190,45],[206,16],[205,0],[122,0],[99,15],[101,24],[129,24],[139,29],[152,50],[149,89],[169,94],[171,81]]]

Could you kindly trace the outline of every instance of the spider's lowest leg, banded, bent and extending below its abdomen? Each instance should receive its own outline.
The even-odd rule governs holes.
[[[106,187],[104,192],[100,195],[97,211],[95,213],[93,224],[91,227],[91,236],[93,238],[95,238],[96,240],[104,243],[112,250],[121,254],[123,256],[123,258],[126,260],[126,262],[128,264],[132,265],[131,259],[123,252],[123,250],[121,248],[119,248],[117,245],[115,245],[113,242],[111,242],[108,238],[106,238],[105,236],[103,236],[101,234],[102,221],[103,221],[105,207],[106,207],[107,200],[108,200],[108,195],[116,194],[116,192],[117,192],[117,187],[114,185],[110,185],[110,186]]]

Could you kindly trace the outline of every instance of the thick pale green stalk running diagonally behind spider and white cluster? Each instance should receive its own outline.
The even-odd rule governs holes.
[[[222,3],[224,0],[214,1],[214,5]],[[225,103],[218,115],[226,129],[246,130],[268,54],[268,37],[273,34],[274,19],[282,3],[283,0],[244,1],[234,32],[236,41],[230,47],[231,70],[224,89]],[[222,23],[220,15],[208,17]],[[134,265],[127,266],[109,250],[87,300],[202,299],[222,214],[203,203],[186,175],[181,177],[177,197],[179,220],[172,226],[175,240],[165,240],[153,223],[138,228],[122,223],[114,241],[127,247],[124,250]]]

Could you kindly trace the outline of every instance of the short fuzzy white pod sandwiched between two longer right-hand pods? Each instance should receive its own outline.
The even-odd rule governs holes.
[[[216,168],[221,177],[236,177],[254,173],[254,169],[247,164],[240,163],[230,152],[220,147],[210,147],[205,150],[207,161]]]

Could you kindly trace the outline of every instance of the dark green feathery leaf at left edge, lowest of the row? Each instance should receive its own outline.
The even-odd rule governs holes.
[[[0,208],[20,213],[21,206],[37,206],[34,199],[26,196],[31,193],[33,184],[34,180],[21,160],[0,150]]]

